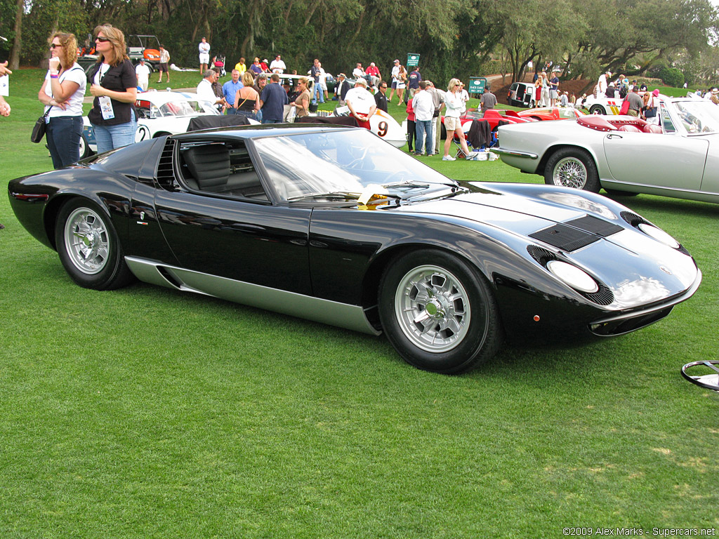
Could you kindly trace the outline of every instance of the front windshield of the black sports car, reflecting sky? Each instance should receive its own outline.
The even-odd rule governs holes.
[[[455,185],[367,129],[267,137],[255,147],[283,201],[359,198],[371,185],[385,185],[393,198]]]

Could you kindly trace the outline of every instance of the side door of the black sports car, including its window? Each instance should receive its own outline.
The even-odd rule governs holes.
[[[225,139],[226,140],[226,139]],[[168,139],[175,142],[173,139]],[[173,175],[180,181],[157,190],[160,229],[180,266],[255,285],[311,295],[308,233],[311,210],[273,206],[260,181],[252,195],[239,190],[210,192],[189,185],[180,150],[208,137],[183,139],[173,149]],[[244,142],[232,143],[232,174],[257,175]],[[160,165],[160,170],[162,164]],[[158,172],[159,174],[159,172]],[[189,188],[188,188],[189,185]]]

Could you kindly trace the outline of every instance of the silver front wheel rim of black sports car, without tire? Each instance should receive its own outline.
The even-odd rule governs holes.
[[[470,327],[467,290],[444,268],[410,270],[395,292],[395,314],[405,336],[419,348],[444,352],[458,346]]]

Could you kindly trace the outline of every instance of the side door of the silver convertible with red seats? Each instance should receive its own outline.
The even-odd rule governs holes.
[[[665,125],[667,121],[672,122],[668,115]],[[605,157],[615,180],[673,189],[700,189],[708,148],[706,139],[682,136],[678,131],[614,131],[604,137]]]

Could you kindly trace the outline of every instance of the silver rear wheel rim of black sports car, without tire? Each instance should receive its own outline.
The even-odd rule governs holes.
[[[77,208],[65,221],[65,249],[73,265],[86,275],[102,271],[110,252],[109,232],[89,208]]]

